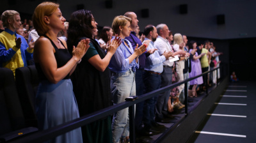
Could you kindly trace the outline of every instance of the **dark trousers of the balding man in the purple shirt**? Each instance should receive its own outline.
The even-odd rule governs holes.
[[[140,96],[144,93],[143,92],[143,89],[144,89],[143,73],[144,73],[143,69],[136,69],[136,73],[135,73],[136,96]],[[142,130],[143,104],[144,102],[140,102],[136,104],[135,128],[136,128],[136,131],[138,132]]]

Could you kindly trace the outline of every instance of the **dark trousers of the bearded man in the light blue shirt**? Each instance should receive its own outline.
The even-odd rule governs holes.
[[[149,93],[161,86],[161,75],[156,73],[145,72],[145,93]],[[154,123],[155,107],[158,95],[145,100],[143,110],[143,123],[145,130],[149,130]]]

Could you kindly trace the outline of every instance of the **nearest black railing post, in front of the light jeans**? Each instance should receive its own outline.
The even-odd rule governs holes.
[[[130,142],[135,143],[135,105],[129,107],[129,127],[130,127]]]

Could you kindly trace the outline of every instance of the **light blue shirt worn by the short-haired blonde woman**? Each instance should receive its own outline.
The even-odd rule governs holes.
[[[112,40],[114,38],[115,37],[113,37]],[[121,41],[121,45],[116,49],[113,57],[111,57],[111,60],[109,62],[109,69],[115,73],[125,73],[130,69],[133,72],[136,72],[136,68],[139,68],[139,64],[136,63],[135,59],[132,61],[131,64],[129,64],[128,59],[128,57],[130,57],[134,53],[132,45],[128,40],[122,39]],[[127,43],[129,47],[127,47],[124,42]]]

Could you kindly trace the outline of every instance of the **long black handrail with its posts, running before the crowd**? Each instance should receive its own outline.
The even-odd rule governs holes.
[[[220,68],[220,67],[218,67]],[[118,110],[125,109],[129,107],[129,121],[130,121],[130,142],[135,142],[135,136],[134,136],[134,105],[136,103],[142,102],[144,100],[147,100],[149,98],[152,98],[156,96],[157,94],[163,93],[164,91],[168,91],[169,89],[172,89],[173,87],[180,86],[181,84],[185,84],[184,93],[188,93],[188,86],[187,82],[190,80],[196,79],[198,77],[201,77],[203,75],[206,75],[210,72],[213,72],[214,70],[217,70],[216,78],[218,79],[218,68],[214,68],[208,72],[204,72],[200,75],[197,75],[195,77],[191,77],[186,80],[182,80],[180,82],[176,82],[175,84],[168,85],[166,87],[162,87],[160,89],[157,89],[155,91],[151,91],[150,93],[143,94],[139,96],[137,100],[134,100],[132,102],[122,102],[118,103],[116,105],[113,105],[111,107],[107,107],[102,110],[98,110],[97,112],[93,112],[92,114],[88,114],[83,117],[79,117],[77,119],[74,119],[72,121],[68,121],[67,123],[60,124],[58,126],[54,126],[52,128],[49,128],[47,130],[42,130],[39,132],[31,133],[29,135],[26,135],[25,137],[20,137],[19,139],[12,140],[10,143],[29,143],[29,142],[44,142],[46,140],[52,139],[54,137],[57,137],[58,135],[61,135],[63,133],[69,132],[71,130],[74,130],[76,128],[79,128],[80,126],[84,126],[86,124],[92,123],[93,121],[97,121],[99,119],[102,119],[106,116],[109,116],[110,114],[113,114],[117,112]],[[218,85],[218,80],[216,80],[216,85]],[[208,94],[208,93],[206,93]],[[186,116],[188,113],[188,97],[185,96],[185,114]],[[131,132],[133,131],[133,132]]]

